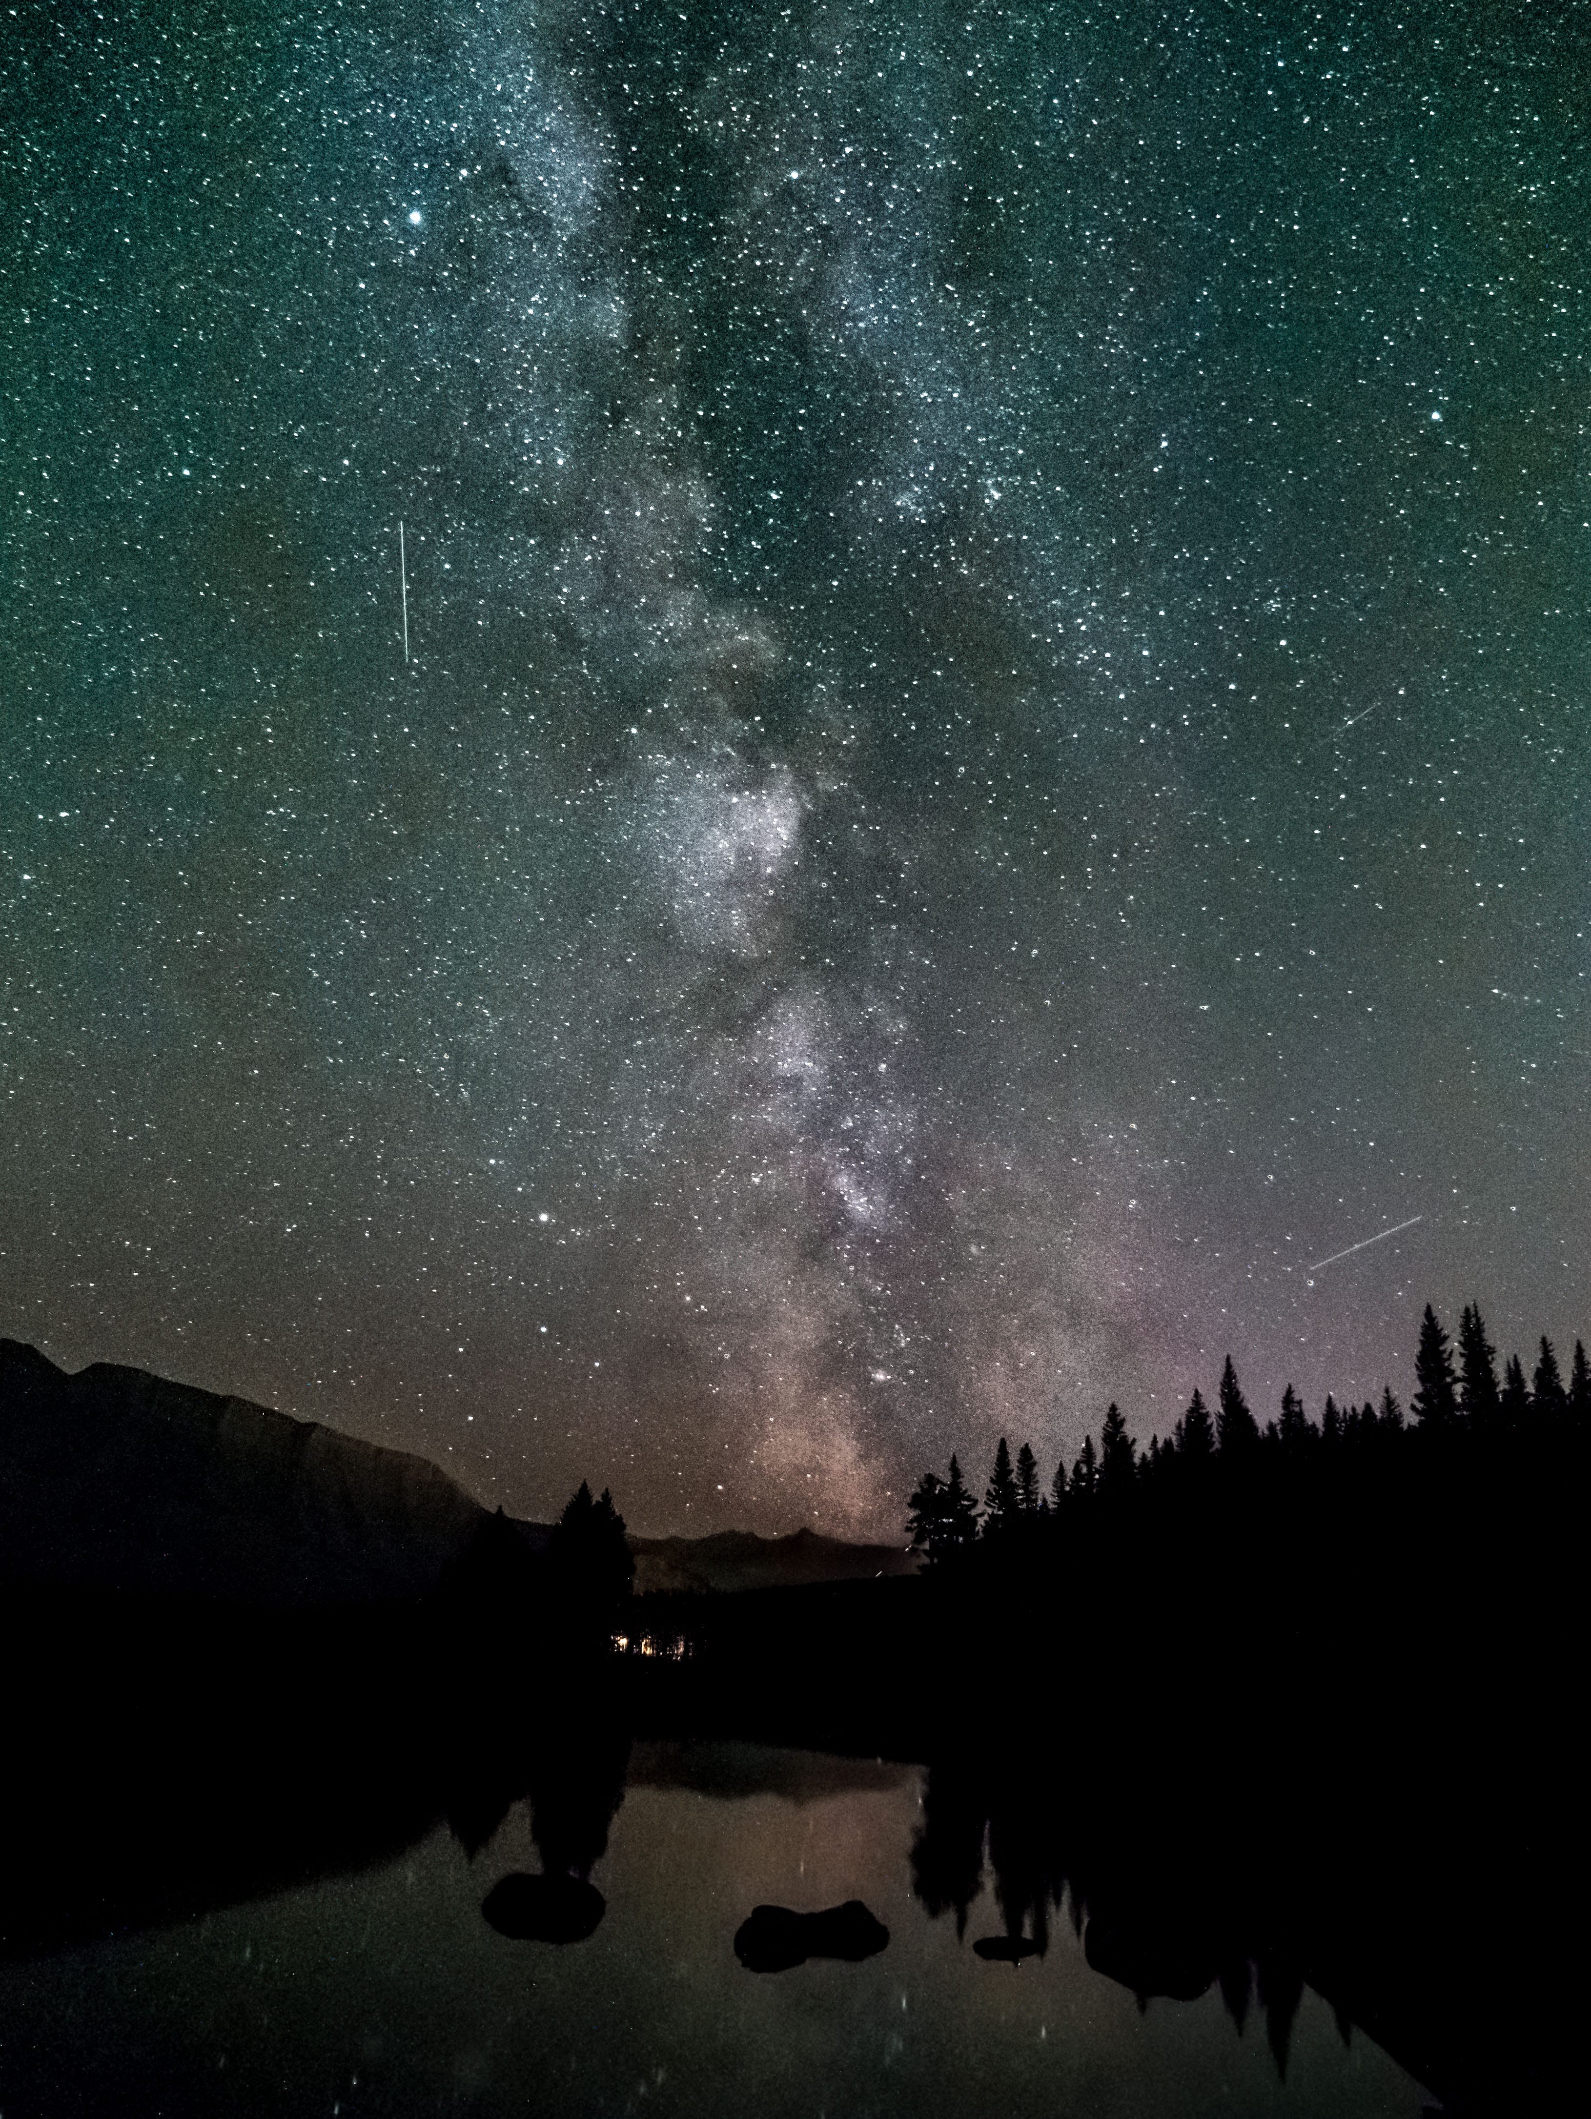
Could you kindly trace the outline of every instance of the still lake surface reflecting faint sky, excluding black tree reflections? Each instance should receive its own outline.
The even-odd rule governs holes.
[[[583,1943],[508,1941],[481,1916],[502,1875],[540,1869],[515,1803],[475,1856],[439,1827],[379,1869],[0,1966],[0,2119],[1426,2108],[1309,1992],[1280,2081],[1256,2013],[1239,2036],[1214,1990],[1140,2011],[1066,1920],[1042,1958],[985,1962],[987,1888],[960,1941],[911,1894],[922,1786],[915,1767],[638,1746],[593,1869],[608,1911]],[[845,1899],[888,1926],[881,1954],[737,1962],[754,1905]]]

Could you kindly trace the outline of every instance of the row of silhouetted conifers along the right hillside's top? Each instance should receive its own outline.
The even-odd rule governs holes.
[[[1379,1403],[1337,1405],[1326,1396],[1320,1422],[1309,1420],[1292,1384],[1282,1392],[1275,1418],[1261,1426],[1237,1382],[1231,1354],[1220,1371],[1214,1411],[1195,1390],[1188,1409],[1167,1439],[1150,1437],[1146,1449],[1129,1435],[1112,1403],[1089,1435],[1068,1473],[1066,1460],[1042,1483],[1038,1458],[1021,1443],[1013,1460],[1006,1437],[994,1454],[989,1483],[979,1504],[966,1485],[960,1458],[951,1456],[949,1477],[930,1471],[911,1494],[907,1530],[913,1551],[934,1568],[972,1551],[1038,1551],[1055,1543],[1068,1524],[1116,1513],[1133,1502],[1172,1500],[1178,1494],[1254,1494],[1261,1488],[1292,1488],[1330,1481],[1343,1468],[1375,1477],[1375,1466],[1409,1466],[1411,1454],[1428,1449],[1487,1449],[1508,1437],[1536,1435],[1551,1443],[1557,1435],[1591,1428],[1591,1365],[1585,1343],[1574,1341],[1568,1384],[1553,1341],[1542,1337],[1530,1384],[1517,1354],[1498,1373],[1479,1303],[1468,1303],[1458,1329],[1458,1346],[1430,1303],[1419,1322],[1415,1352],[1415,1394],[1411,1418],[1388,1386]]]

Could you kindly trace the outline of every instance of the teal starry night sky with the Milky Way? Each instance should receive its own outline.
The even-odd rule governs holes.
[[[0,1331],[841,1534],[1572,1343],[1589,170],[1574,8],[23,8]]]

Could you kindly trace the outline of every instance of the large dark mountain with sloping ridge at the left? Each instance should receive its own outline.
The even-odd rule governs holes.
[[[432,1591],[489,1511],[426,1458],[0,1339],[0,1579],[367,1604]]]

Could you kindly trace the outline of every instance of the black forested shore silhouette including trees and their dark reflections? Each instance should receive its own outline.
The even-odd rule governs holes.
[[[1307,1986],[1447,2108],[1576,2108],[1587,1356],[1566,1382],[1540,1341],[1527,1379],[1474,1303],[1455,1341],[1426,1310],[1415,1386],[1318,1420],[1288,1388],[1261,1422],[1227,1360],[1148,1449],[1112,1405],[1049,1483],[1027,1443],[981,1496],[953,1458],[907,1577],[633,1596],[583,1485],[540,1545],[483,1517],[409,1606],[15,1585],[0,1954],[392,1858],[439,1816],[485,1850],[515,1801],[542,1869],[483,1918],[578,1943],[631,1738],[722,1738],[922,1763],[913,1890],[968,1975],[1070,1920],[1144,2007],[1218,1988],[1277,2068]],[[689,1655],[614,1655],[616,1625]],[[110,1808],[106,1727],[140,1731]]]

